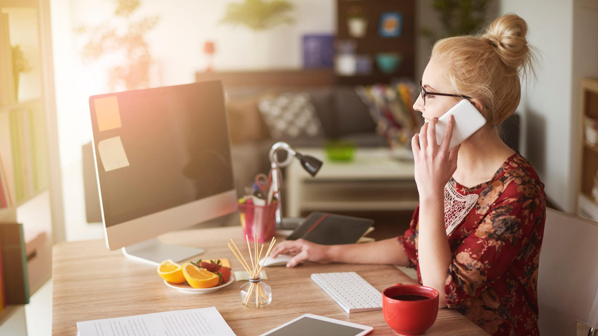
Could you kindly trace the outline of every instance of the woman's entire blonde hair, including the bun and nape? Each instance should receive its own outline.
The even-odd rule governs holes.
[[[527,44],[527,23],[506,14],[481,35],[443,38],[432,47],[432,58],[443,63],[454,93],[477,99],[486,129],[497,130],[515,112],[521,99],[521,79],[535,78],[536,49]]]

